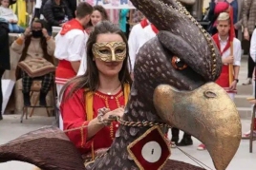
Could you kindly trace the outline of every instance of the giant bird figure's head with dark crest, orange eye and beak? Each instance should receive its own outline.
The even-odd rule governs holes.
[[[224,170],[241,141],[235,104],[214,81],[221,55],[210,35],[176,0],[131,0],[159,30],[139,49],[135,87],[160,119],[203,142]]]

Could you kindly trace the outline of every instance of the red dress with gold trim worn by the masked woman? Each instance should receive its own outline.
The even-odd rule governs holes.
[[[97,110],[102,107],[109,107],[110,110],[115,110],[118,107],[124,106],[124,95],[120,90],[116,95],[106,95],[100,92],[94,94],[93,110],[94,118],[97,116]],[[88,125],[84,89],[80,89],[66,102],[60,105],[60,111],[63,118],[64,130]],[[76,148],[81,154],[91,153],[92,144],[94,150],[108,148],[115,139],[115,134],[118,128],[118,123],[114,122],[110,126],[103,127],[90,140],[87,139],[87,128],[67,133],[67,136],[75,143]]]

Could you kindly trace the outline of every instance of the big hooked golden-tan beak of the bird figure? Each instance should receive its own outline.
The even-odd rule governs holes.
[[[222,87],[208,83],[182,92],[159,85],[153,100],[163,121],[205,144],[217,170],[228,166],[241,141],[241,122],[236,105]]]

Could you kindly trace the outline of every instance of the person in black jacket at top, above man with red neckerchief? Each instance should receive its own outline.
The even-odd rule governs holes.
[[[65,22],[73,18],[65,0],[48,0],[43,6],[43,15],[47,21],[47,30],[52,34],[52,27],[61,27]]]

